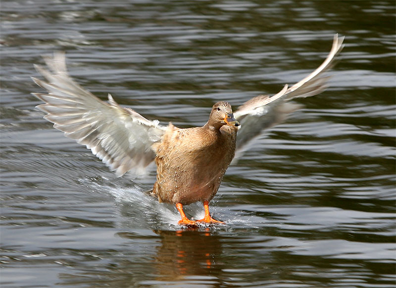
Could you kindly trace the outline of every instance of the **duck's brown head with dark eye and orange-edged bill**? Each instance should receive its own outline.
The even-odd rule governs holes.
[[[238,127],[240,125],[240,123],[234,118],[230,103],[223,101],[217,102],[213,105],[212,111],[209,115],[209,120],[206,124],[213,126],[216,129],[220,129],[223,125],[234,127]]]

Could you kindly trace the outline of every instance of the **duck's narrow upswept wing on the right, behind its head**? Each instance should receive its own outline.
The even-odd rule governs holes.
[[[247,142],[259,135],[266,128],[282,122],[300,105],[287,103],[297,97],[309,97],[319,94],[327,88],[329,76],[323,74],[333,65],[335,57],[343,49],[344,37],[334,36],[332,49],[326,60],[315,71],[291,87],[286,84],[284,88],[273,96],[259,95],[243,104],[234,113],[234,118],[241,123],[237,134],[237,151],[241,150]]]

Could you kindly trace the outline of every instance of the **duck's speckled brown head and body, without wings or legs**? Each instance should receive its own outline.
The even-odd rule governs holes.
[[[162,141],[153,144],[153,193],[159,202],[188,205],[213,198],[235,154],[238,128],[222,122],[227,113],[231,106],[218,102],[204,126],[180,129],[170,124]]]

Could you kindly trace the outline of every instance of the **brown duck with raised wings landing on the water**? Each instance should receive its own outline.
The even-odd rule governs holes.
[[[343,45],[334,36],[324,62],[311,74],[275,95],[258,95],[233,112],[226,101],[215,103],[208,121],[199,127],[179,128],[148,120],[131,108],[121,107],[108,94],[104,102],[75,82],[66,69],[64,52],[44,56],[47,67],[34,65],[45,81],[32,80],[47,93],[32,93],[44,104],[36,106],[44,119],[68,138],[85,145],[117,176],[142,175],[152,162],[156,181],[149,194],[160,203],[171,203],[180,213],[181,226],[224,224],[212,218],[209,202],[216,195],[236,151],[264,129],[284,121],[299,105],[294,98],[314,96],[328,86],[329,71]],[[183,206],[201,202],[202,219],[189,219]]]

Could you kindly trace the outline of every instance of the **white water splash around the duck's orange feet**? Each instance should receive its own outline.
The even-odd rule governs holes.
[[[114,199],[116,206],[119,227],[153,229],[153,230],[180,230],[187,227],[178,225],[180,214],[172,204],[158,203],[156,199],[146,193],[142,188],[130,180],[121,180],[117,182],[111,178],[85,178],[79,179],[80,184],[84,184],[93,194],[107,194]],[[210,212],[215,219],[224,221],[225,225],[213,225],[199,223],[198,230],[201,228],[210,228],[211,230],[232,230],[241,227],[259,228],[257,225],[262,222],[262,218],[256,219],[252,215],[241,214],[241,211],[233,210],[228,207],[216,206],[216,202],[221,201],[220,197],[211,201]],[[201,203],[193,203],[185,207],[187,216],[191,219],[201,219],[204,216],[203,206]],[[254,219],[252,219],[254,218]],[[197,228],[197,227],[196,227]]]

